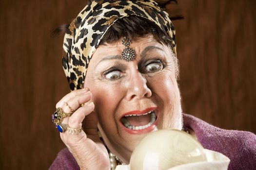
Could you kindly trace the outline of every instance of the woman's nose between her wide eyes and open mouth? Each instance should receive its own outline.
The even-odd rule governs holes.
[[[152,92],[147,86],[147,80],[143,74],[141,74],[138,69],[131,74],[129,80],[127,80],[127,94],[126,100],[139,100],[143,97],[151,97]]]

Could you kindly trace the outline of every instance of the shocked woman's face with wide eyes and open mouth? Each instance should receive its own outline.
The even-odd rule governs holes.
[[[130,45],[136,59],[121,59],[121,40],[101,45],[87,69],[85,86],[93,94],[98,128],[108,148],[128,163],[146,133],[181,129],[180,95],[173,52],[153,36]]]

